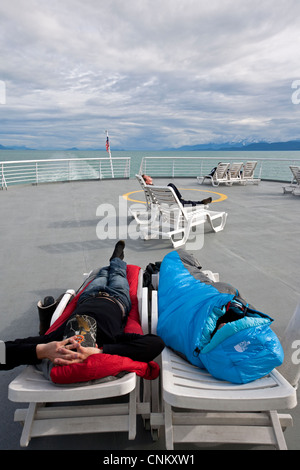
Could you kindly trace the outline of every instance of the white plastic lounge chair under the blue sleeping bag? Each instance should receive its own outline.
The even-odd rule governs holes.
[[[213,276],[211,279],[217,280]],[[156,332],[157,314],[157,291],[153,291],[152,333]],[[298,339],[299,333],[300,306],[285,333],[282,373],[273,370],[243,385],[215,379],[165,348],[161,365],[163,409],[151,414],[151,426],[156,430],[164,426],[166,448],[172,450],[175,443],[231,443],[287,449],[283,430],[292,425],[292,417],[277,410],[297,405],[300,366],[292,363],[295,351],[291,339]]]

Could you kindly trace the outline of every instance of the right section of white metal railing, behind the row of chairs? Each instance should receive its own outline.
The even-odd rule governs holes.
[[[233,163],[257,161],[255,177],[270,181],[291,181],[292,174],[289,165],[300,166],[298,159],[283,158],[235,158],[235,157],[144,157],[140,165],[140,174],[149,174],[152,177],[166,178],[196,178],[210,173],[212,168],[220,162]]]

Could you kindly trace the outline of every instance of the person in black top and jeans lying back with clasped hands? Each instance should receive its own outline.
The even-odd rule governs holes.
[[[142,362],[158,356],[164,348],[159,336],[124,333],[131,309],[124,247],[123,240],[116,243],[109,266],[100,269],[69,319],[55,331],[6,341],[6,363],[0,364],[0,370],[39,364],[43,359],[69,365],[101,353]]]

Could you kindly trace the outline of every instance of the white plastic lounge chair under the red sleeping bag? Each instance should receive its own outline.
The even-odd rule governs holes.
[[[146,333],[148,293],[147,289],[142,287],[142,281],[143,273],[140,270],[137,298],[142,328]],[[62,299],[55,317],[64,310],[71,294],[68,292]],[[36,367],[26,367],[10,383],[8,390],[8,398],[11,401],[29,403],[28,408],[17,409],[15,412],[15,421],[24,424],[20,445],[27,446],[30,439],[37,436],[112,431],[128,431],[128,438],[134,439],[137,414],[142,414],[145,420],[150,419],[150,401],[140,402],[139,377],[130,372],[121,378],[114,377],[109,381],[104,379],[102,382],[82,386],[57,386],[44,378]],[[145,381],[144,385],[144,397],[148,396],[149,399],[149,381]],[[119,403],[118,398],[126,395],[128,402]],[[109,405],[99,404],[99,400],[104,398],[110,399]],[[88,400],[97,401],[92,405]],[[79,401],[80,404],[75,403]],[[61,406],[62,403],[64,406]]]

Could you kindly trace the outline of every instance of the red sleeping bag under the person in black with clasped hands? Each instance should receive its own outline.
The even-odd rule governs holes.
[[[137,287],[140,269],[138,266],[127,265],[127,279],[130,289],[132,308],[129,312],[125,333],[143,334],[140,325]],[[67,305],[63,314],[49,328],[47,333],[56,330],[74,311],[80,291]],[[46,334],[47,334],[46,333]],[[88,382],[90,380],[101,379],[108,376],[116,376],[120,372],[135,372],[144,379],[153,380],[159,375],[159,366],[156,362],[149,363],[133,361],[128,357],[121,357],[111,354],[94,354],[89,356],[84,362],[71,364],[69,366],[52,367],[51,380],[57,384],[71,384],[76,382]]]

